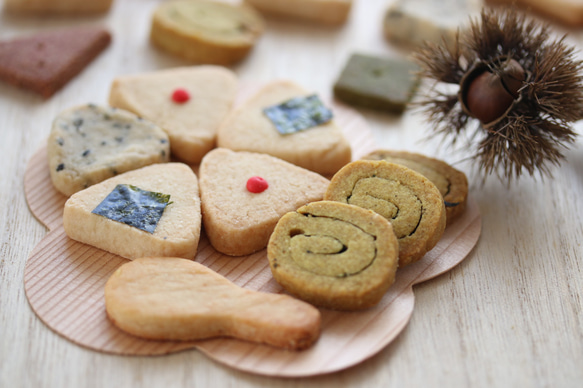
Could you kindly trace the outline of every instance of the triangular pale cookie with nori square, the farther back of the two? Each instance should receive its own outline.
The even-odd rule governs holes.
[[[351,160],[333,111],[317,95],[275,81],[232,111],[217,132],[219,147],[269,154],[322,175]]]

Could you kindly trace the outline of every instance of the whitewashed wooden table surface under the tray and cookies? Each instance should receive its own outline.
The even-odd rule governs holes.
[[[436,0],[437,1],[437,0]],[[47,328],[30,309],[23,272],[46,234],[23,195],[30,157],[44,145],[61,110],[105,103],[113,77],[187,65],[152,48],[150,15],[159,0],[116,0],[107,15],[29,18],[0,14],[0,39],[53,26],[103,24],[113,43],[49,100],[0,84],[0,387],[577,387],[583,381],[583,147],[566,152],[553,179],[521,179],[510,189],[481,186],[470,195],[482,213],[474,251],[445,275],[415,287],[409,325],[371,359],[348,370],[300,380],[238,372],[196,350],[122,357],[79,347]],[[355,0],[340,28],[268,19],[251,55],[233,67],[242,81],[291,79],[323,95],[353,52],[398,52],[382,36],[390,0]],[[583,48],[583,32],[570,42]],[[427,124],[361,110],[379,148],[406,149],[455,162],[421,142]],[[576,126],[581,131],[581,126]]]

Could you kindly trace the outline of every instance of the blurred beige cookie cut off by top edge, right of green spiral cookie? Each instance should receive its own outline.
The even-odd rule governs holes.
[[[342,24],[352,0],[245,0],[260,12],[322,24]]]

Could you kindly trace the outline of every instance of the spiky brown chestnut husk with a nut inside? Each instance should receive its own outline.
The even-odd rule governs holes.
[[[434,133],[452,144],[473,131],[467,146],[484,178],[495,173],[510,183],[525,171],[550,176],[574,142],[571,124],[583,118],[583,62],[565,36],[551,39],[548,24],[516,10],[484,9],[453,47],[427,44],[415,58],[422,76],[459,85],[457,93],[433,88],[419,104]],[[496,106],[480,103],[491,95],[501,96]]]

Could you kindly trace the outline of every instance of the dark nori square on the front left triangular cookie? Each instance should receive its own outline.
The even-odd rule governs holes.
[[[117,185],[92,213],[154,233],[169,201],[168,194],[121,184]]]

